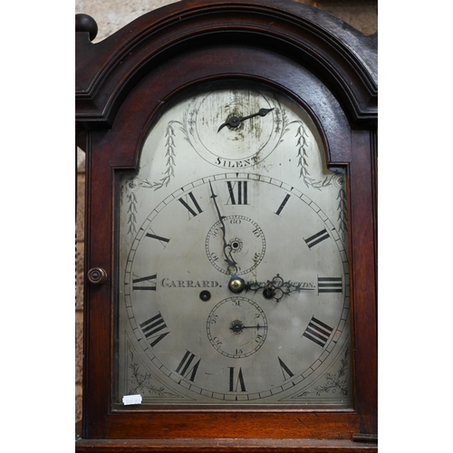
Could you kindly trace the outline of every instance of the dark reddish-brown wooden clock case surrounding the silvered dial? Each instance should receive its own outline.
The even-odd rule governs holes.
[[[92,19],[80,19],[76,123],[87,152],[85,275],[101,268],[107,276],[85,279],[82,439],[76,450],[376,448],[364,441],[377,437],[377,36],[284,0],[182,1],[144,14],[96,44],[90,41]],[[112,402],[115,172],[137,166],[150,122],[173,96],[228,79],[265,83],[299,101],[321,131],[328,162],[347,169],[352,410],[121,410]],[[313,446],[313,439],[322,443]]]

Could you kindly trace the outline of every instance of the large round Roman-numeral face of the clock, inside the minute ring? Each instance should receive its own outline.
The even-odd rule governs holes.
[[[287,218],[311,220],[294,236]],[[313,200],[275,178],[225,173],[178,188],[140,226],[125,266],[130,332],[150,370],[199,401],[275,400],[315,379],[347,335],[341,244]],[[284,302],[265,297],[269,283],[290,293]]]

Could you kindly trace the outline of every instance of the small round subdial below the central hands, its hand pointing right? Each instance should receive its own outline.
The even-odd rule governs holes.
[[[252,355],[267,336],[265,313],[245,297],[228,297],[207,317],[207,338],[226,357],[240,359]]]

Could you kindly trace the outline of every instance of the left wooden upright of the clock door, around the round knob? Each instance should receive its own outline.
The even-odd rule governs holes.
[[[111,395],[112,283],[112,176],[110,152],[102,143],[105,132],[87,134],[85,276],[100,267],[107,273],[102,284],[85,278],[83,356],[83,437],[105,437]]]

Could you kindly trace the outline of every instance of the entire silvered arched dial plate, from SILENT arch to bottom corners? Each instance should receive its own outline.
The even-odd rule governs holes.
[[[351,406],[346,180],[256,84],[169,101],[120,178],[117,401]]]

